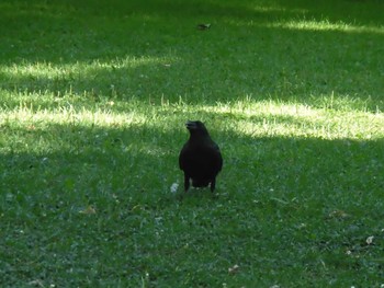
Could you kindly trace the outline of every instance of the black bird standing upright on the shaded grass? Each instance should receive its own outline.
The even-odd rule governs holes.
[[[184,143],[179,155],[179,165],[184,171],[184,191],[190,187],[216,186],[216,176],[223,166],[223,158],[218,146],[211,139],[204,124],[189,120],[185,124],[190,139]]]

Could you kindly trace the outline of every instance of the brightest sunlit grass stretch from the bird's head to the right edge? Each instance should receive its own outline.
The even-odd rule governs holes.
[[[238,101],[204,106],[228,123],[236,133],[252,137],[314,137],[321,139],[380,139],[384,136],[382,113],[332,111],[273,101]],[[218,116],[218,117],[221,117]],[[224,120],[225,123],[225,120]]]

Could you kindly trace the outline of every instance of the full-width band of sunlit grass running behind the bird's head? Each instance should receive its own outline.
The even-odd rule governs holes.
[[[121,107],[118,107],[121,106]],[[125,112],[123,112],[125,111]],[[185,113],[187,112],[187,113]],[[216,105],[165,103],[151,106],[146,102],[109,101],[98,108],[72,106],[69,103],[45,110],[20,104],[13,110],[2,110],[0,119],[18,126],[79,125],[108,127],[156,127],[158,130],[179,129],[188,118],[212,122],[221,130],[231,130],[251,137],[309,137],[320,139],[380,139],[384,137],[382,113],[335,111],[315,108],[300,103],[274,101],[257,102],[249,97]],[[163,115],[173,115],[163,118]],[[206,116],[204,116],[206,115]],[[210,119],[214,115],[214,119]]]

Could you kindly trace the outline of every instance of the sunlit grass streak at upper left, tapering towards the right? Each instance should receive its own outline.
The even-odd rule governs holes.
[[[116,94],[117,88],[131,79],[144,79],[140,69],[161,70],[177,62],[171,57],[124,57],[106,60],[9,64],[0,67],[3,89],[29,93],[55,93],[58,96],[74,92],[95,94],[100,91]],[[89,84],[94,80],[93,85]]]

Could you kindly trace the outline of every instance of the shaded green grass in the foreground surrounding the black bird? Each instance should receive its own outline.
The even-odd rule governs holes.
[[[211,200],[208,189],[191,189],[180,203],[170,185],[182,181],[178,153],[187,131],[81,125],[7,131],[9,143],[0,154],[3,281],[63,283],[72,268],[67,280],[76,285],[84,279],[132,285],[148,270],[148,281],[161,283],[170,272],[185,276],[174,272],[174,263],[185,268],[219,255],[228,265],[229,246],[249,273],[273,266],[284,277],[297,261],[315,265],[307,257],[318,253],[332,272],[355,262],[355,272],[382,275],[372,261],[380,257],[382,242],[362,249],[357,243],[382,229],[383,139],[256,138],[229,128],[211,133],[224,154],[219,197]],[[207,241],[218,241],[216,254],[182,249],[185,243],[204,249]],[[353,251],[361,260],[346,260],[343,250],[352,245],[363,250]],[[303,247],[312,252],[287,257]],[[154,263],[155,255],[161,265]],[[260,257],[270,261],[259,263]],[[97,276],[90,276],[94,269]]]

